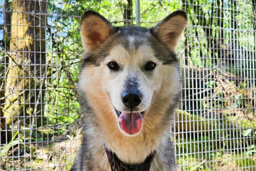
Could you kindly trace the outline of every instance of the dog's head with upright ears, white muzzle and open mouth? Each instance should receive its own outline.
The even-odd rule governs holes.
[[[176,107],[180,93],[175,49],[186,23],[185,12],[175,11],[151,29],[113,27],[99,13],[85,12],[79,86],[95,112],[115,115],[126,135],[140,132],[146,115],[168,118],[165,112]]]

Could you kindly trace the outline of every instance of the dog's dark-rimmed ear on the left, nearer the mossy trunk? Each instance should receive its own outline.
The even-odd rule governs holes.
[[[91,50],[99,45],[109,35],[113,34],[110,22],[99,13],[88,10],[81,19],[81,38],[83,47]]]

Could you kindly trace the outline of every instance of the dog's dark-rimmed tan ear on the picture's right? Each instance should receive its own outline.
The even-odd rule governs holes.
[[[176,50],[179,37],[187,25],[187,15],[184,11],[177,10],[159,22],[150,32],[159,38],[171,50]]]

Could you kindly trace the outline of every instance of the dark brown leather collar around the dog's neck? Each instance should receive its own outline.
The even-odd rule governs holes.
[[[104,144],[105,146],[105,144]],[[108,161],[110,163],[111,171],[149,171],[151,163],[156,155],[156,151],[153,152],[150,156],[148,156],[143,164],[140,165],[127,165],[116,157],[115,153],[109,151],[105,148],[105,151],[108,155]]]

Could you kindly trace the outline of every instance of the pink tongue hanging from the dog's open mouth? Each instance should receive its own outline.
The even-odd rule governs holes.
[[[119,122],[125,133],[134,134],[140,131],[143,117],[140,112],[121,112]]]

